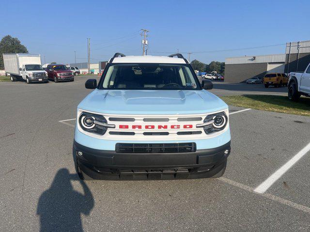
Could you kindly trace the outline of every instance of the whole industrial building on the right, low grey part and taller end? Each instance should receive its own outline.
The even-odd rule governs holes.
[[[310,63],[310,41],[286,43],[285,54],[225,58],[225,82],[244,83],[266,73],[303,72]]]

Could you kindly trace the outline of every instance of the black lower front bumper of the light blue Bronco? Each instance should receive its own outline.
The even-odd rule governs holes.
[[[97,150],[74,142],[77,166],[93,179],[195,179],[212,177],[226,166],[230,142],[189,153],[131,154]],[[228,154],[224,151],[229,150]],[[77,155],[77,152],[82,155]]]

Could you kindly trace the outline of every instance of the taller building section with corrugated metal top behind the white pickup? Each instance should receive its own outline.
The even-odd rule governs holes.
[[[310,41],[286,43],[285,73],[304,72],[310,63]]]

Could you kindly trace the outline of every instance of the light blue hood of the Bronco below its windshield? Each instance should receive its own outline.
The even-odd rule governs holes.
[[[225,102],[206,90],[95,89],[79,109],[105,114],[203,114],[227,109]]]

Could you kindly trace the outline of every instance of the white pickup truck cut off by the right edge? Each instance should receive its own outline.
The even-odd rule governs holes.
[[[310,64],[304,72],[289,73],[288,98],[298,101],[301,95],[310,97]]]

